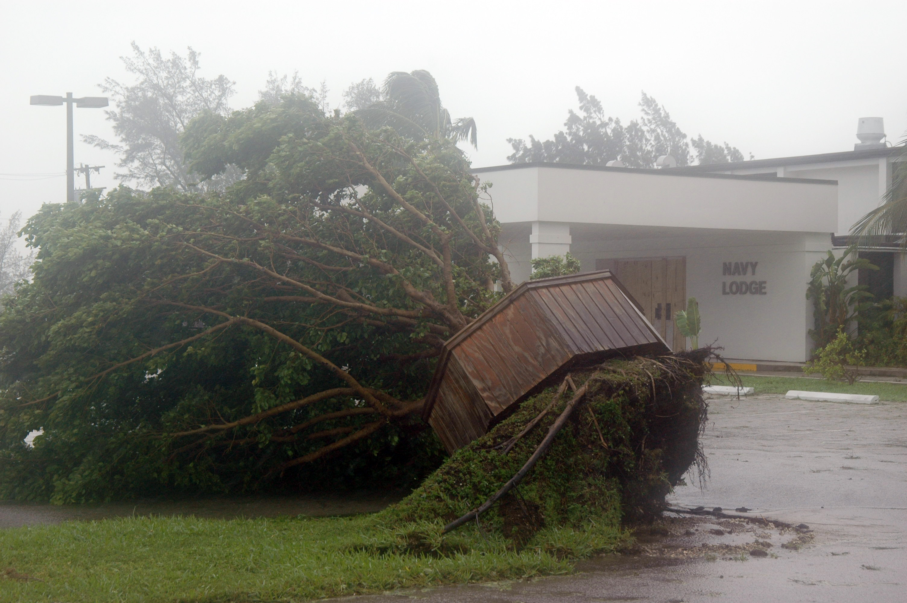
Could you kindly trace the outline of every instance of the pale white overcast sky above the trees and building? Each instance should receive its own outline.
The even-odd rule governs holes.
[[[129,81],[130,43],[201,53],[202,74],[236,82],[231,106],[255,101],[268,70],[327,82],[334,106],[363,78],[434,74],[454,117],[478,123],[473,165],[506,163],[506,139],[548,138],[579,85],[608,114],[639,116],[654,96],[691,137],[758,159],[853,150],[858,117],[907,130],[907,2],[19,2],[0,19],[0,219],[64,199],[64,107],[32,94],[100,95]],[[116,158],[79,134],[111,136],[102,110],[76,109],[75,163]],[[27,178],[32,178],[31,176]],[[79,186],[80,180],[76,180]],[[82,184],[83,186],[83,184]]]

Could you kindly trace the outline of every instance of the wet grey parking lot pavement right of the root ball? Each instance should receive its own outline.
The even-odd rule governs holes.
[[[700,490],[688,476],[670,503],[741,519],[668,514],[631,554],[583,561],[572,576],[338,600],[907,601],[907,404],[710,404],[711,478]]]

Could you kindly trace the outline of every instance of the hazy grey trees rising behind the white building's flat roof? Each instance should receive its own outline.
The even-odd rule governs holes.
[[[697,162],[722,163],[743,160],[743,153],[725,143],[722,147],[703,139],[688,141],[665,108],[651,96],[642,92],[639,121],[627,125],[618,118],[605,114],[601,102],[576,87],[580,113],[569,110],[564,130],[558,131],[547,141],[530,135],[523,139],[507,139],[513,153],[507,157],[511,163],[547,161],[585,165],[604,165],[610,160],[620,160],[629,168],[653,168],[660,155],[672,155],[678,166],[690,165],[693,160],[690,144],[696,151]],[[750,157],[752,159],[752,157]]]

